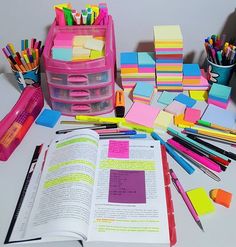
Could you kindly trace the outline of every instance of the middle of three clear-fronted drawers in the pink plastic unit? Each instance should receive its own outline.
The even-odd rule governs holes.
[[[101,97],[111,97],[114,92],[114,83],[109,82],[104,86],[76,87],[76,86],[55,86],[48,84],[52,98],[69,101],[96,100]]]

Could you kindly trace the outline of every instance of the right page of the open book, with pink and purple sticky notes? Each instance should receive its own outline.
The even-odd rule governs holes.
[[[99,143],[88,241],[169,246],[160,143],[119,141]]]

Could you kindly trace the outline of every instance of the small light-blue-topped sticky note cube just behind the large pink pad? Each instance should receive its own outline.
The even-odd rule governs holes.
[[[150,104],[154,93],[154,86],[146,82],[137,82],[133,91],[133,101]]]

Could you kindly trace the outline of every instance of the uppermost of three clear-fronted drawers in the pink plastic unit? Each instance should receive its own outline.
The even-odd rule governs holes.
[[[89,86],[112,81],[112,70],[90,74],[57,74],[46,71],[47,81],[55,85]]]

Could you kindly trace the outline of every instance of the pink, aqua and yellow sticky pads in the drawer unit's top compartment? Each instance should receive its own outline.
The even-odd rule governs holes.
[[[104,57],[104,46],[104,37],[59,32],[54,38],[52,58],[61,61],[99,59]]]

